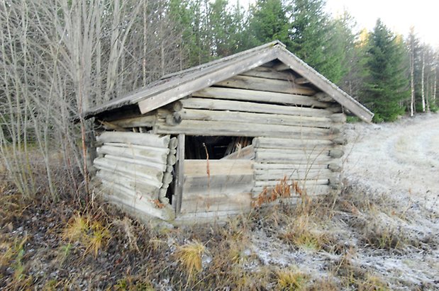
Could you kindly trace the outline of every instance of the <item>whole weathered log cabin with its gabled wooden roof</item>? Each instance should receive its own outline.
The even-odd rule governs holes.
[[[96,125],[104,197],[136,216],[186,223],[248,212],[281,181],[285,200],[340,190],[345,113],[373,116],[274,41],[164,76],[83,117]]]

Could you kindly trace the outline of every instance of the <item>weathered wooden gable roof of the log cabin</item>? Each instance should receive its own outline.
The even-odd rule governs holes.
[[[289,52],[279,40],[255,47],[251,50],[239,52],[229,57],[223,57],[213,62],[201,64],[190,69],[185,69],[174,74],[162,77],[148,86],[128,93],[121,98],[116,98],[96,108],[87,110],[84,118],[91,118],[99,113],[121,108],[126,105],[137,104],[140,113],[167,105],[232,76],[246,72],[262,64],[278,59],[286,68],[292,69],[297,74],[308,79],[313,86],[327,93],[335,101],[350,110],[362,120],[370,122],[373,113],[358,101],[342,91],[338,86],[309,67],[304,61]]]

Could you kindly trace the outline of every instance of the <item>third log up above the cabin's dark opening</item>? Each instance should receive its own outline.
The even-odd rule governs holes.
[[[184,108],[230,110],[251,113],[271,113],[296,116],[326,117],[333,112],[326,109],[305,108],[293,105],[275,105],[244,101],[218,100],[211,98],[187,98],[182,100]]]

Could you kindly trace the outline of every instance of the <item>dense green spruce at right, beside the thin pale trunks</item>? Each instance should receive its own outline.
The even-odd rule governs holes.
[[[409,78],[404,43],[380,19],[369,37],[365,105],[374,120],[392,121],[404,113],[402,102],[409,98]]]

